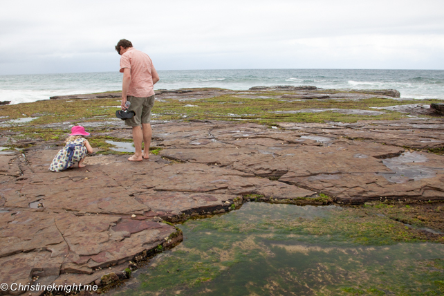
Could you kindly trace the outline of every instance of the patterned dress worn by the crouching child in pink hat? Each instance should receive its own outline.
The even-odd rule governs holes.
[[[60,150],[53,159],[53,163],[49,167],[50,171],[62,172],[82,160],[88,153],[84,141],[86,141],[85,138],[78,138],[67,142],[64,149]]]

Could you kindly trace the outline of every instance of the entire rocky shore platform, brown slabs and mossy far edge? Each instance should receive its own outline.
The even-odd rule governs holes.
[[[131,129],[113,118],[120,93],[1,106],[0,115],[17,109],[36,119],[20,122],[23,115],[17,115],[0,124],[0,146],[8,148],[0,151],[0,281],[104,288],[179,243],[183,236],[172,223],[235,210],[246,201],[443,203],[444,120],[416,106],[426,104],[403,102],[396,91],[279,87],[158,91],[156,106],[160,109],[162,101],[170,105],[163,113],[153,110],[158,114],[152,122],[154,154],[139,163],[128,162],[127,153],[118,151],[131,140]],[[226,104],[294,100],[293,110],[263,107],[273,116],[342,112],[361,118],[270,123],[270,118],[244,111],[225,120],[215,120],[210,112],[202,118],[202,113],[193,117],[184,111],[177,115],[187,116],[182,120],[165,119],[177,104],[183,109],[190,101],[204,106],[204,100],[216,97]],[[373,98],[382,106],[337,105]],[[336,104],[326,108],[330,110],[313,111],[329,100]],[[93,109],[92,115],[70,119],[62,109],[68,104]],[[172,111],[165,111],[168,106]],[[373,119],[371,111],[399,118]],[[73,124],[91,132],[95,154],[86,158],[84,168],[50,172]],[[0,292],[9,294],[19,292]]]

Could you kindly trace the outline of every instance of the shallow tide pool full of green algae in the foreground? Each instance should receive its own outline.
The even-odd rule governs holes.
[[[111,294],[443,295],[444,245],[368,210],[246,203],[190,220]]]

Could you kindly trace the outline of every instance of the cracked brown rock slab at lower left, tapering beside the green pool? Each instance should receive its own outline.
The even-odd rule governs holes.
[[[165,223],[124,216],[26,209],[0,213],[0,225],[0,279],[9,284],[28,284],[35,276],[39,284],[51,284],[62,273],[72,282],[78,274],[94,277],[98,268],[128,261],[176,232]]]

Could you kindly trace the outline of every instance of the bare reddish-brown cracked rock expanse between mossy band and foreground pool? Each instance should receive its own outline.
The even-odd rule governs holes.
[[[440,119],[153,129],[163,150],[138,163],[91,156],[84,168],[54,173],[48,167],[58,148],[50,142],[0,155],[0,280],[87,284],[165,243],[176,229],[161,219],[227,212],[255,196],[444,200],[444,156],[427,152],[443,149]],[[127,129],[103,134],[131,136]]]

